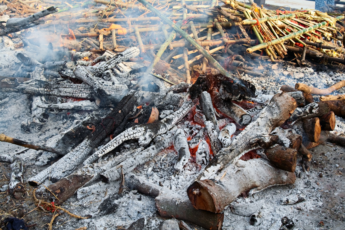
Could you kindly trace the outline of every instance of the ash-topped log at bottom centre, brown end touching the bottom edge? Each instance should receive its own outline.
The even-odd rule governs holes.
[[[161,217],[189,221],[210,230],[220,230],[222,227],[224,213],[216,214],[197,210],[192,206],[187,196],[181,196],[168,188],[134,175],[127,176],[126,183],[132,189],[156,197],[156,206]]]

